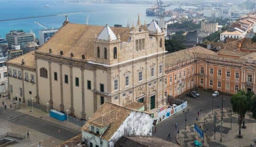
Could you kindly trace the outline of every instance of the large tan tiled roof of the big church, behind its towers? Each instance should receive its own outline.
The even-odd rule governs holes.
[[[110,27],[115,35],[120,35],[121,41],[128,41],[130,28]],[[72,59],[81,59],[85,55],[85,60],[94,58],[94,40],[104,29],[104,26],[85,25],[67,23],[56,34],[51,37],[47,43],[42,45],[37,52],[48,53],[52,50],[53,55],[60,55],[63,51],[64,57]]]

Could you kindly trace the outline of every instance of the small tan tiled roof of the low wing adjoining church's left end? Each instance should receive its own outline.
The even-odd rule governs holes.
[[[22,59],[24,61],[24,64],[22,64]],[[19,56],[15,59],[11,59],[11,60],[7,61],[7,64],[8,63],[35,69],[36,66],[35,66],[34,51],[28,52],[28,53],[26,53],[22,56]]]

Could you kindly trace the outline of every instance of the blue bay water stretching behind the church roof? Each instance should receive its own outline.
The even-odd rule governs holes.
[[[43,5],[51,7],[42,7]],[[39,22],[48,29],[59,28],[68,15],[69,22],[113,26],[132,22],[136,25],[137,15],[140,14],[141,22],[151,22],[156,16],[146,16],[146,8],[151,5],[141,4],[105,4],[105,3],[60,3],[56,0],[0,0],[0,37],[13,29],[23,29],[26,32],[32,30],[38,37],[39,30],[43,28],[34,22]],[[178,7],[178,6],[172,6]],[[54,15],[54,16],[46,16]],[[46,16],[30,19],[16,19],[25,17]],[[166,18],[168,19],[168,18]],[[128,21],[129,20],[129,21]],[[130,21],[131,20],[131,21]]]

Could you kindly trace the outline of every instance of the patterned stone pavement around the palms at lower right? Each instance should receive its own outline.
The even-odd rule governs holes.
[[[217,117],[216,122],[216,139],[214,139],[214,114]],[[206,123],[205,120],[206,119]],[[236,138],[239,131],[238,115],[232,113],[232,129],[231,129],[231,113],[229,110],[223,109],[223,131],[222,131],[222,142],[220,141],[221,135],[221,109],[214,110],[214,113],[209,112],[208,114],[199,118],[198,122],[203,126],[205,132],[204,147],[248,147],[254,145],[256,139],[256,120],[252,118],[251,113],[246,114],[245,125],[246,129],[241,130],[243,139]],[[187,130],[180,130],[180,133],[176,135],[176,141],[182,147],[194,147],[194,140],[199,139],[198,135],[195,134],[193,124],[187,127]]]

